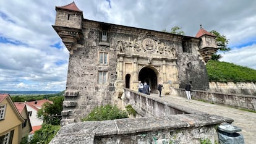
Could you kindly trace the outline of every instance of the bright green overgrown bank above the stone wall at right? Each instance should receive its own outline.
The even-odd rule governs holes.
[[[256,82],[256,70],[248,67],[212,60],[206,67],[210,82]]]

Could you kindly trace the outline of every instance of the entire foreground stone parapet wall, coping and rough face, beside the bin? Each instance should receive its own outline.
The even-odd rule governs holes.
[[[201,113],[77,122],[63,126],[50,143],[215,143],[216,125],[223,122],[233,120]]]

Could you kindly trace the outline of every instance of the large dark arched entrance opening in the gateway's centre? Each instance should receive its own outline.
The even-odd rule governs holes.
[[[157,75],[150,67],[143,67],[139,72],[139,80],[147,82],[151,88],[151,93],[157,93]]]

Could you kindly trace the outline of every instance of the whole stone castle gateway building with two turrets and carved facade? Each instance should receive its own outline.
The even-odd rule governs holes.
[[[120,106],[123,89],[137,90],[139,80],[151,93],[163,83],[165,95],[190,80],[195,90],[209,88],[205,63],[217,46],[203,28],[193,37],[96,22],[84,19],[74,2],[56,7],[53,28],[70,53],[62,124],[99,105]]]

